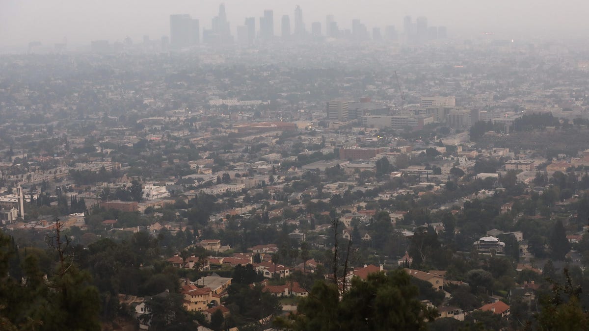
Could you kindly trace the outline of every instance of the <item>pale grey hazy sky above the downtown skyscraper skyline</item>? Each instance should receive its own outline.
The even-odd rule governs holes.
[[[280,17],[303,9],[307,29],[319,21],[325,31],[325,15],[333,14],[340,28],[353,18],[367,25],[393,24],[402,30],[405,15],[426,16],[429,25],[445,25],[449,34],[494,31],[505,37],[521,34],[584,37],[589,31],[587,0],[226,0],[227,16],[234,34],[246,16],[258,18],[264,9],[274,10],[274,32]],[[170,33],[170,14],[190,14],[210,27],[221,1],[189,0],[0,0],[0,46],[62,42],[90,44],[91,40],[122,41],[143,35],[159,39]],[[291,18],[291,23],[293,19]]]

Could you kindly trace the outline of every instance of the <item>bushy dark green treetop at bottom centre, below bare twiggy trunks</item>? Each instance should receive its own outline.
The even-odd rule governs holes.
[[[437,313],[421,303],[418,288],[402,269],[355,277],[339,300],[335,284],[317,282],[299,314],[277,319],[287,330],[422,330]]]

